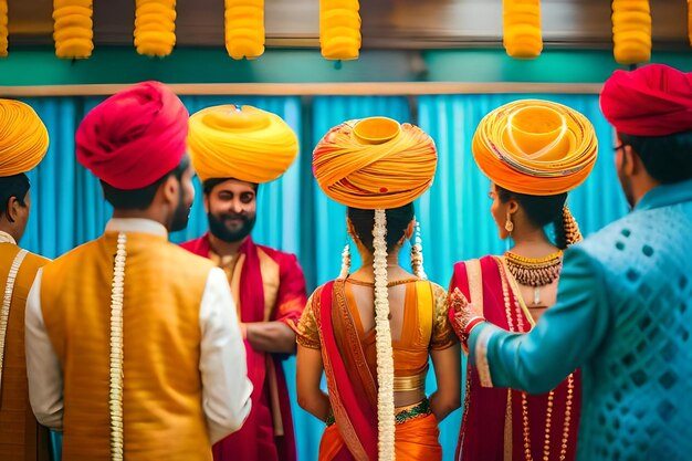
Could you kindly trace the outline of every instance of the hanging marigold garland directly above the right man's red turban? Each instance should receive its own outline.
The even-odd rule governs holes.
[[[620,64],[651,59],[649,0],[612,0],[612,54]]]

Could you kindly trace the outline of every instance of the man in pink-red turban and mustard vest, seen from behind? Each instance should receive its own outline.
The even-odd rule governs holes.
[[[63,431],[64,460],[210,461],[250,412],[226,276],[167,240],[195,196],[187,132],[158,82],[107,98],[77,129],[77,160],[113,218],[39,272],[27,307],[30,400]]]

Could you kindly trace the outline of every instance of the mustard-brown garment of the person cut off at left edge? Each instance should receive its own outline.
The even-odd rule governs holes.
[[[0,286],[3,293],[12,262],[21,249],[0,243]],[[36,272],[49,260],[27,253],[19,266],[9,305],[0,390],[0,460],[48,460],[48,430],[36,422],[29,405],[24,356],[24,310]],[[0,347],[2,345],[0,344]]]

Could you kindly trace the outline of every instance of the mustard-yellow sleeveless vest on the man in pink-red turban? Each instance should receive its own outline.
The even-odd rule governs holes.
[[[45,328],[63,370],[63,460],[109,460],[111,284],[117,232],[48,264]],[[208,461],[199,311],[213,264],[162,237],[127,233],[124,437],[128,461]],[[229,398],[232,396],[229,396]]]

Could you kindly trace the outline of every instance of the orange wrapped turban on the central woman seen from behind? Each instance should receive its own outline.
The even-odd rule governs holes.
[[[313,174],[333,200],[361,209],[402,207],[432,184],[434,142],[422,129],[386,117],[345,122],[313,153]]]

